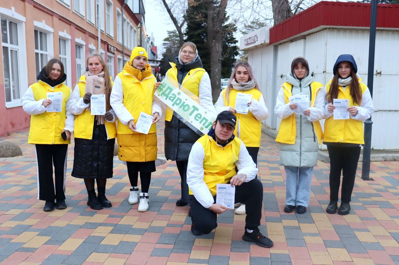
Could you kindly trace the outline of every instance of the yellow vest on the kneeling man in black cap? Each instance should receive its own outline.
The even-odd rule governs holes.
[[[226,184],[237,174],[235,162],[237,162],[240,153],[241,140],[235,137],[233,141],[222,147],[206,134],[199,138],[197,142],[202,145],[205,153],[203,181],[205,181],[212,196],[215,196],[216,184]],[[191,189],[189,194],[193,195]]]

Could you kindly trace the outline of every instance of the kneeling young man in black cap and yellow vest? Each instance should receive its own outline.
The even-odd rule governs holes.
[[[263,236],[261,224],[263,186],[243,141],[233,134],[237,119],[230,111],[216,117],[212,129],[193,145],[187,166],[192,234],[209,234],[217,227],[217,214],[227,210],[216,203],[216,184],[235,185],[235,202],[245,203],[247,217],[243,240],[261,247],[273,242]],[[238,168],[238,173],[235,171]]]

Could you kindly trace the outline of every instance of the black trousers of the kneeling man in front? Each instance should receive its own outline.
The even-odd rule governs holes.
[[[213,197],[216,203],[216,196]],[[249,182],[236,186],[235,203],[245,203],[245,227],[252,230],[261,224],[263,185],[259,179],[253,179]],[[191,221],[196,230],[202,234],[209,234],[217,227],[217,214],[203,207],[194,197],[190,195]]]

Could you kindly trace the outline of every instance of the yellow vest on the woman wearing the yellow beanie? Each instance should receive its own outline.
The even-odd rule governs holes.
[[[130,114],[132,114],[134,122],[137,122],[141,112],[152,115],[151,112],[155,91],[155,76],[150,74],[141,82],[136,77],[126,72],[126,70],[120,72],[118,76],[122,81],[123,105],[130,112]],[[123,123],[120,121],[118,121],[117,131],[118,134],[135,133],[130,130],[127,125],[123,125]],[[151,125],[150,131],[148,133],[156,133],[155,123]]]

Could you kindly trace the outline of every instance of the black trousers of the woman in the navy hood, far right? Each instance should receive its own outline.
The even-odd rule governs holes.
[[[341,171],[342,188],[341,202],[349,203],[353,186],[355,185],[356,169],[360,156],[359,147],[337,147],[327,145],[328,156],[330,157],[330,200],[338,201],[340,189]]]

